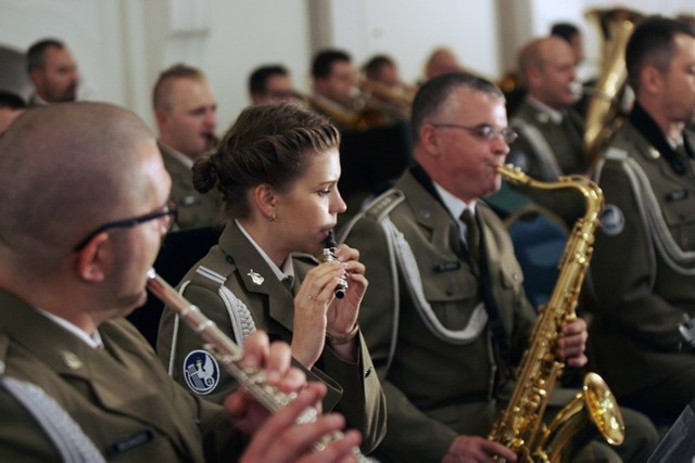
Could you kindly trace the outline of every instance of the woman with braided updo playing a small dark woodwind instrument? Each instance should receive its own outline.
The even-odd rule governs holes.
[[[232,339],[265,330],[290,343],[296,362],[328,385],[324,410],[343,413],[369,452],[383,436],[386,411],[356,323],[365,268],[344,245],[337,262],[317,265],[313,257],[345,210],[337,188],[339,143],[338,129],[312,111],[288,103],[244,110],[217,150],[193,166],[200,192],[223,193],[227,223],[179,288]],[[157,353],[177,382],[206,399],[222,401],[237,387],[168,308]]]

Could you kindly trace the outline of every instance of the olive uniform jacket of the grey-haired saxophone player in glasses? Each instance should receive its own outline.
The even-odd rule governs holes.
[[[370,282],[359,325],[388,410],[388,432],[377,456],[394,462],[440,462],[458,434],[491,430],[506,369],[494,353],[488,325],[469,342],[451,342],[432,331],[431,320],[425,321],[407,279],[387,250],[381,226],[386,217],[409,244],[424,297],[443,330],[473,324],[475,308],[481,301],[480,280],[468,263],[456,221],[434,192],[412,170],[394,190],[341,231],[341,235],[348,232],[341,241],[359,250]],[[392,201],[395,207],[390,206]],[[520,357],[535,314],[525,296],[521,270],[504,226],[482,202],[476,210],[486,244],[492,294],[506,335]]]

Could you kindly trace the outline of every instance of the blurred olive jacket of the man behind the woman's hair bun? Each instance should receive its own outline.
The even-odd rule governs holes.
[[[211,191],[199,193],[193,188],[193,172],[190,167],[175,157],[174,150],[159,143],[166,171],[172,176],[172,200],[176,202],[178,215],[176,224],[179,229],[215,227],[218,224],[217,214],[222,203],[219,193]]]

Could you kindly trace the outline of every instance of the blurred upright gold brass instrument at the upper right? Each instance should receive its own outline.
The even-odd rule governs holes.
[[[592,166],[603,144],[624,119],[621,102],[628,70],[626,46],[641,13],[627,9],[591,10],[585,16],[602,33],[602,68],[596,86],[586,90],[591,100],[586,112],[584,147],[587,165]]]

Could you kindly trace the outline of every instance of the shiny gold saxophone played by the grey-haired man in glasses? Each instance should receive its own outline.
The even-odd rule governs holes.
[[[624,425],[615,396],[596,373],[584,377],[582,390],[549,424],[543,416],[551,391],[565,363],[555,349],[563,326],[577,318],[576,307],[593,252],[594,232],[604,206],[601,188],[582,176],[563,176],[556,182],[533,180],[514,166],[500,166],[509,182],[542,190],[576,189],[585,214],[576,223],[559,262],[559,276],[539,314],[517,371],[510,401],[494,423],[489,439],[515,451],[520,462],[568,461],[569,453],[601,434],[610,445],[624,439]]]

